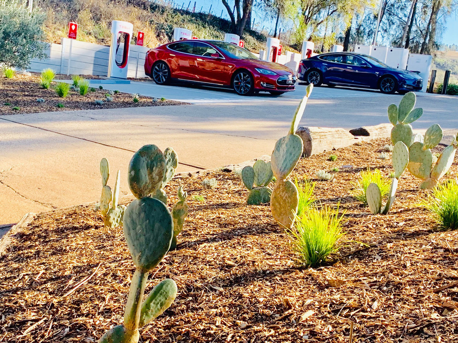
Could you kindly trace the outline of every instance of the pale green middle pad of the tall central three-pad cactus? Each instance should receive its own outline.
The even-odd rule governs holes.
[[[272,152],[272,171],[277,179],[286,179],[298,163],[304,149],[302,139],[289,134],[280,138]]]

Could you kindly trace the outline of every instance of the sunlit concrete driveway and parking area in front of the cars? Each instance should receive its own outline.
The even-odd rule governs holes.
[[[0,116],[0,225],[17,222],[26,212],[97,201],[103,157],[112,170],[121,170],[121,194],[129,194],[127,165],[144,144],[173,147],[181,172],[270,155],[305,94],[304,85],[281,96],[253,97],[144,81],[104,88],[192,104]],[[400,100],[378,91],[315,87],[300,125],[352,129],[387,123],[388,105]],[[424,115],[414,128],[425,130],[433,123],[458,128],[457,100],[418,93]]]

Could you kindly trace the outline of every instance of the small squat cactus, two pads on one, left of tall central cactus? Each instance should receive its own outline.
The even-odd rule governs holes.
[[[273,172],[272,164],[257,160],[253,167],[245,166],[242,169],[242,181],[245,187],[250,191],[246,202],[248,205],[261,205],[270,202],[272,190],[267,187],[272,182]]]

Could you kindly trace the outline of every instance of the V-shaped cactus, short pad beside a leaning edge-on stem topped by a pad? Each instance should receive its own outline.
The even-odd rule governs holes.
[[[393,147],[393,168],[394,176],[391,182],[390,193],[387,203],[382,207],[382,192],[375,183],[369,184],[366,190],[366,200],[369,210],[373,214],[387,214],[393,205],[396,197],[396,189],[398,188],[398,180],[409,163],[409,148],[402,142],[397,142]]]

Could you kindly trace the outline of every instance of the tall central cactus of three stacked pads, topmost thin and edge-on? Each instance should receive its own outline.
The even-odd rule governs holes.
[[[310,97],[313,84],[306,89],[306,95],[294,113],[288,135],[280,138],[272,152],[272,172],[277,181],[270,197],[270,209],[273,218],[283,227],[290,229],[294,224],[299,203],[299,193],[290,180],[286,180],[298,163],[304,149],[302,139],[296,135],[305,105]]]

